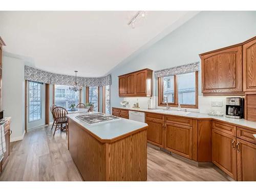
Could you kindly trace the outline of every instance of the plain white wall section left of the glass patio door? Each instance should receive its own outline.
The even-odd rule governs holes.
[[[11,117],[11,141],[23,139],[25,132],[24,61],[3,56],[3,110]]]

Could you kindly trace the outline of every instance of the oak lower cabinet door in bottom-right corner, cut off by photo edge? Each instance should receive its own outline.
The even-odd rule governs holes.
[[[237,139],[238,181],[256,181],[256,144]]]

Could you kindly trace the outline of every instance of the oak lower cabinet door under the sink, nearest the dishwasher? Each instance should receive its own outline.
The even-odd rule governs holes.
[[[163,129],[164,122],[154,119],[146,119],[147,127],[147,141],[159,147],[164,146]]]

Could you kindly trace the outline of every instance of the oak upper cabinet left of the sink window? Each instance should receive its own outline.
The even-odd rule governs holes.
[[[118,76],[119,97],[151,97],[152,72],[150,69],[143,69]]]

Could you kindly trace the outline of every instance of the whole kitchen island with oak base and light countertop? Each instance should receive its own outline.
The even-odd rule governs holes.
[[[147,124],[119,118],[88,124],[69,121],[68,147],[84,181],[146,181]]]

